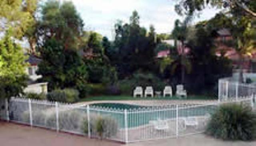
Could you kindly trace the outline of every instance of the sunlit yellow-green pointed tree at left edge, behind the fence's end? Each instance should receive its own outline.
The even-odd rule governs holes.
[[[10,30],[0,41],[0,97],[10,98],[23,93],[27,76],[26,56],[22,48],[11,39]]]

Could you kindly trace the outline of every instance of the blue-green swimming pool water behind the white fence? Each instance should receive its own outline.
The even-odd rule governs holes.
[[[96,103],[92,106],[102,107],[105,109],[114,109],[118,112],[105,112],[105,111],[96,111],[101,115],[111,116],[114,118],[118,125],[121,128],[125,127],[125,114],[124,109],[127,110],[127,126],[128,128],[135,128],[142,125],[147,125],[150,121],[156,120],[176,120],[177,114],[178,118],[184,117],[202,117],[206,114],[212,114],[216,105],[191,105],[191,106],[182,106],[178,107],[178,112],[176,105],[170,105],[166,107],[154,107],[154,106],[141,106],[141,105],[132,105],[124,103]],[[93,112],[93,110],[92,110]]]

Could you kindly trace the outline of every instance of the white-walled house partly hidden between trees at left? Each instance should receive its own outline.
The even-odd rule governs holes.
[[[47,93],[47,82],[37,83],[36,81],[42,78],[42,75],[36,74],[38,70],[38,64],[41,59],[36,55],[30,55],[28,60],[29,66],[26,68],[26,73],[28,74],[28,86],[24,89],[24,93]]]

